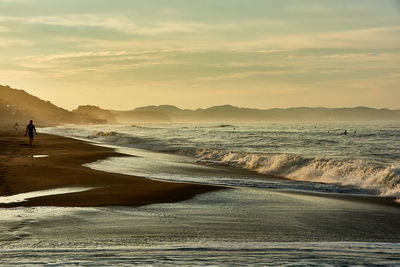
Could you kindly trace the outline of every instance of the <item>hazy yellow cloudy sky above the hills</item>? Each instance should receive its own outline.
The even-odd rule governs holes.
[[[400,109],[398,0],[0,0],[0,84],[66,109]]]

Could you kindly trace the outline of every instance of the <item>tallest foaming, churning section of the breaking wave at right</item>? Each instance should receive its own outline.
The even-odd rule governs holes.
[[[298,181],[351,185],[373,189],[380,196],[400,198],[400,166],[383,166],[362,160],[345,161],[291,154],[238,153],[201,149],[198,162],[223,164]]]

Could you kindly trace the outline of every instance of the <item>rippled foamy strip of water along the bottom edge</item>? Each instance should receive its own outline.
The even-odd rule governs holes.
[[[191,243],[163,248],[5,250],[2,256],[10,265],[23,254],[21,265],[398,266],[399,253],[398,245],[379,243],[245,243],[233,248]]]

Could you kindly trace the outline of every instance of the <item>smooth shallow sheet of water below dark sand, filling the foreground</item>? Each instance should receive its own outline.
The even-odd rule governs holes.
[[[400,209],[265,189],[145,207],[0,209],[2,264],[400,263]]]

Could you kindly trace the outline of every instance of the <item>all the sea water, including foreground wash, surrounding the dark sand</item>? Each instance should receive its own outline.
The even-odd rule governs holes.
[[[400,209],[376,201],[400,198],[398,123],[60,126],[39,129],[37,142],[40,133],[126,155],[89,168],[228,189],[143,207],[0,209],[1,265],[400,265]]]

